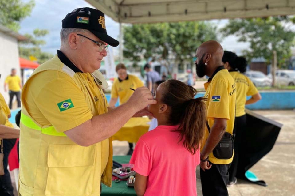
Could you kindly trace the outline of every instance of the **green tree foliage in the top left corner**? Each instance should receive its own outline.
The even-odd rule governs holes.
[[[18,32],[19,22],[31,14],[34,6],[34,0],[27,3],[21,0],[0,0],[0,24]]]

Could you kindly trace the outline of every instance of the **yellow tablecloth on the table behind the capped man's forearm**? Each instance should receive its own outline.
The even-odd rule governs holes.
[[[148,117],[131,118],[115,135],[113,140],[137,142],[140,136],[148,132],[151,120]]]

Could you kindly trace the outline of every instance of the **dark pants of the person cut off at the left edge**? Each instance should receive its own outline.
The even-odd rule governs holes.
[[[16,139],[3,139],[3,166],[4,166],[4,175],[0,176],[0,195],[1,196],[13,196],[13,187],[11,184],[11,178],[8,166],[8,155],[15,144]]]

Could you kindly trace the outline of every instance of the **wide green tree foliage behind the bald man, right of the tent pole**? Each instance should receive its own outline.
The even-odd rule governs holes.
[[[177,22],[135,24],[124,26],[124,57],[175,57],[176,61],[191,60],[204,41],[216,40],[216,27],[208,22]]]

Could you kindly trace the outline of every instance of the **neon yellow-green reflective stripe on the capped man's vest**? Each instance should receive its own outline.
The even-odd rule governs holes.
[[[57,130],[53,126],[41,128],[29,116],[25,115],[24,113],[21,114],[21,122],[23,125],[29,127],[30,129],[41,131],[42,134],[66,137],[66,134],[57,132]]]

